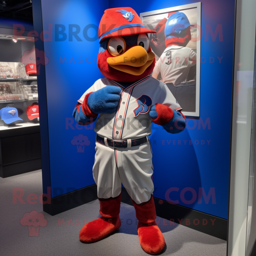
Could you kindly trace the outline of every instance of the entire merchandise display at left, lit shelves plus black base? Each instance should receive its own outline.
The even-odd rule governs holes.
[[[42,168],[36,74],[34,38],[15,39],[11,28],[0,26],[2,178]]]

